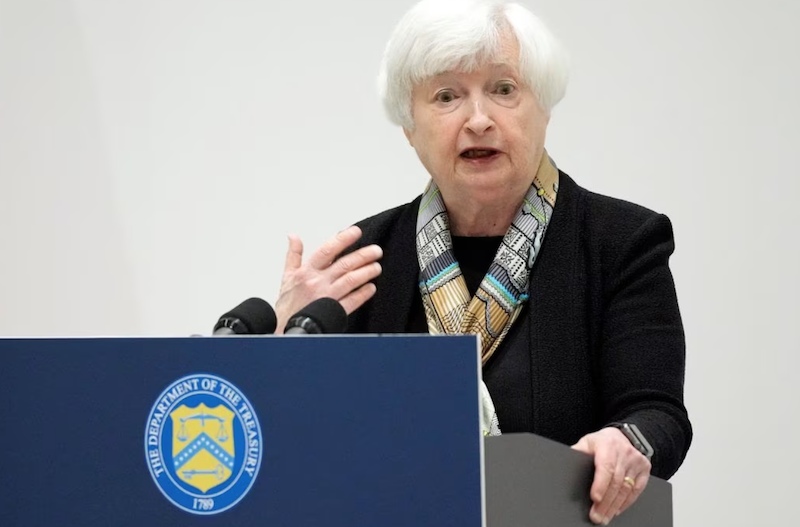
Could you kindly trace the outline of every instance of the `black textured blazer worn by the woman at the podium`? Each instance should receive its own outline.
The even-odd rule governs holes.
[[[375,296],[350,316],[349,332],[407,331],[419,302],[419,201],[357,224],[358,247],[383,248],[383,273]],[[634,423],[655,450],[652,473],[675,473],[692,428],[668,267],[674,247],[666,216],[589,192],[560,172],[530,299],[483,370],[503,432],[571,445],[608,423]]]

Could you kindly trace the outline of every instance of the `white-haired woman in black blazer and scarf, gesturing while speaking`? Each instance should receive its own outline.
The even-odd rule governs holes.
[[[517,4],[412,8],[380,91],[431,182],[306,262],[290,237],[277,312],[283,327],[330,296],[351,332],[480,335],[499,428],[593,454],[590,518],[605,524],[651,472],[675,473],[692,429],[670,222],[585,190],[549,158],[566,70],[558,42]]]

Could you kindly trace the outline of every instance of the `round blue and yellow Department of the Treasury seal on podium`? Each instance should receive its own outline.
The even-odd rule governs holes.
[[[189,375],[156,400],[144,449],[150,475],[169,501],[193,514],[217,514],[253,486],[261,467],[261,427],[233,384]]]

